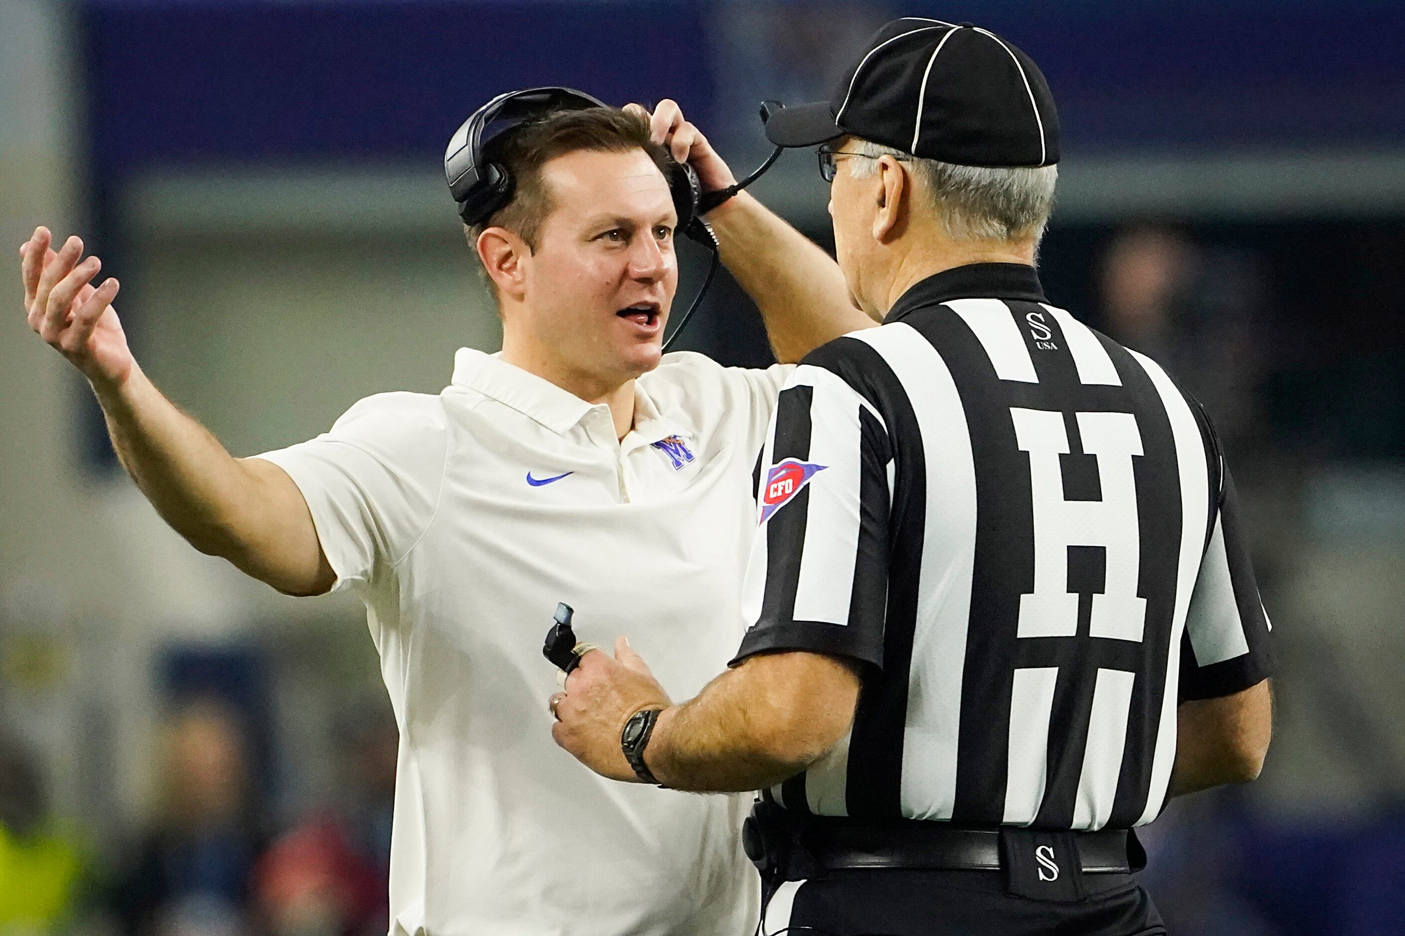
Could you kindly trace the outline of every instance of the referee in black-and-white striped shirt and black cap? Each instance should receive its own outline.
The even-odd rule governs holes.
[[[587,654],[555,736],[606,776],[762,788],[766,933],[1163,933],[1131,829],[1257,776],[1269,621],[1204,410],[1040,287],[1044,77],[898,20],[767,135],[823,143],[884,325],[781,391],[733,668],[674,706],[627,646]]]

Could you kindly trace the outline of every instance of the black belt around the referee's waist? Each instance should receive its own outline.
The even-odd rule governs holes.
[[[743,831],[743,843],[763,874],[801,880],[818,871],[860,869],[996,871],[1006,867],[1002,840],[1021,832],[920,819],[795,817],[771,804],[757,804]],[[1127,829],[1057,835],[1069,836],[1085,874],[1128,874],[1145,866],[1141,845]]]

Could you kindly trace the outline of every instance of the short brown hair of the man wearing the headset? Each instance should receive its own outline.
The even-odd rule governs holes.
[[[514,186],[511,201],[482,223],[464,225],[473,256],[478,256],[478,236],[486,228],[506,228],[521,238],[528,250],[537,250],[541,222],[554,208],[551,191],[541,177],[542,166],[579,150],[625,153],[631,149],[646,152],[663,177],[669,177],[669,153],[649,138],[649,119],[618,107],[554,111],[488,141],[485,160],[503,164],[511,173]],[[492,290],[488,270],[481,268],[481,273]]]

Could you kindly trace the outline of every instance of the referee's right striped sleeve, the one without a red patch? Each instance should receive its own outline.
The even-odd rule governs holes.
[[[1210,545],[1190,594],[1180,646],[1180,698],[1229,696],[1267,679],[1273,672],[1272,630],[1227,469]]]

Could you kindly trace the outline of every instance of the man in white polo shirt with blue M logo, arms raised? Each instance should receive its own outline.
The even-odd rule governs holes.
[[[554,110],[488,141],[511,195],[468,235],[502,351],[459,350],[441,394],[370,396],[256,458],[233,458],[142,372],[117,281],[94,284],[77,238],[53,250],[41,228],[21,247],[30,326],[87,377],[162,517],[281,592],[365,603],[400,729],[392,935],[754,926],[747,804],[580,770],[542,706],[559,600],[583,609],[584,639],[628,623],[681,697],[742,637],[752,472],[792,368],[662,356],[677,285],[666,148],[704,190],[735,181],[667,103],[652,125]],[[781,360],[867,323],[835,263],[745,193],[708,218]]]

